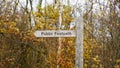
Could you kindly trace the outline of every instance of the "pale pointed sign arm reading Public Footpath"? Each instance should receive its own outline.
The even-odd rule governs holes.
[[[75,37],[75,30],[37,30],[34,35],[36,37]]]

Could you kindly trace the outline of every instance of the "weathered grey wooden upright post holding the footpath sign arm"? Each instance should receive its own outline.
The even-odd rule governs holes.
[[[83,17],[76,19],[76,68],[83,68]]]

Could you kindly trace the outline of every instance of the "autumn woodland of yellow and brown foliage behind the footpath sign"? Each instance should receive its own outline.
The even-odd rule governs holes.
[[[33,10],[33,1],[0,0],[0,68],[74,68],[75,38],[37,38],[36,30],[58,30],[59,0]],[[29,4],[29,6],[28,6]],[[97,8],[96,8],[96,6]],[[75,30],[75,9],[84,17],[84,68],[120,68],[120,0],[63,5],[62,30]],[[71,27],[71,22],[73,25]]]

